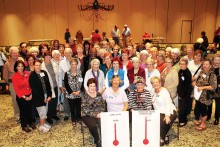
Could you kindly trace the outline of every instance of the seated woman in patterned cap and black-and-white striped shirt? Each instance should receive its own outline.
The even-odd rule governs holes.
[[[128,95],[129,110],[151,110],[152,98],[150,92],[144,89],[145,79],[141,76],[135,76],[134,84],[137,89],[132,90]]]

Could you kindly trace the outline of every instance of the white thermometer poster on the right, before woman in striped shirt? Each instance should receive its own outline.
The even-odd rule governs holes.
[[[132,112],[132,147],[160,146],[160,112]]]

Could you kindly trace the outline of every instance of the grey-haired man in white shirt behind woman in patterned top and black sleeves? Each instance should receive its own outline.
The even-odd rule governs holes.
[[[65,55],[65,59],[63,59],[62,61],[60,61],[59,64],[59,71],[58,71],[58,86],[59,89],[62,93],[64,93],[64,113],[65,113],[65,117],[64,120],[68,120],[69,116],[70,116],[70,107],[69,107],[69,103],[68,100],[65,96],[65,88],[64,88],[64,75],[67,71],[69,71],[70,69],[70,60],[72,59],[72,49],[71,48],[66,48],[64,51],[64,55]]]

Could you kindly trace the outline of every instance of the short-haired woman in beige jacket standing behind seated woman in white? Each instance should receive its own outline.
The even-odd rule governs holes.
[[[165,59],[166,67],[160,74],[161,76],[161,85],[166,88],[171,98],[174,99],[177,96],[177,86],[179,84],[178,72],[173,68],[173,59],[166,58]]]

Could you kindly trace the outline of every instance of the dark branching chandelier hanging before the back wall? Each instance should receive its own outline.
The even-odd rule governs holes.
[[[92,20],[93,22],[98,22],[99,20],[106,20],[108,17],[108,12],[114,9],[114,5],[108,5],[104,3],[99,3],[98,0],[94,2],[88,2],[86,5],[78,5],[78,10],[80,14],[87,20]]]

